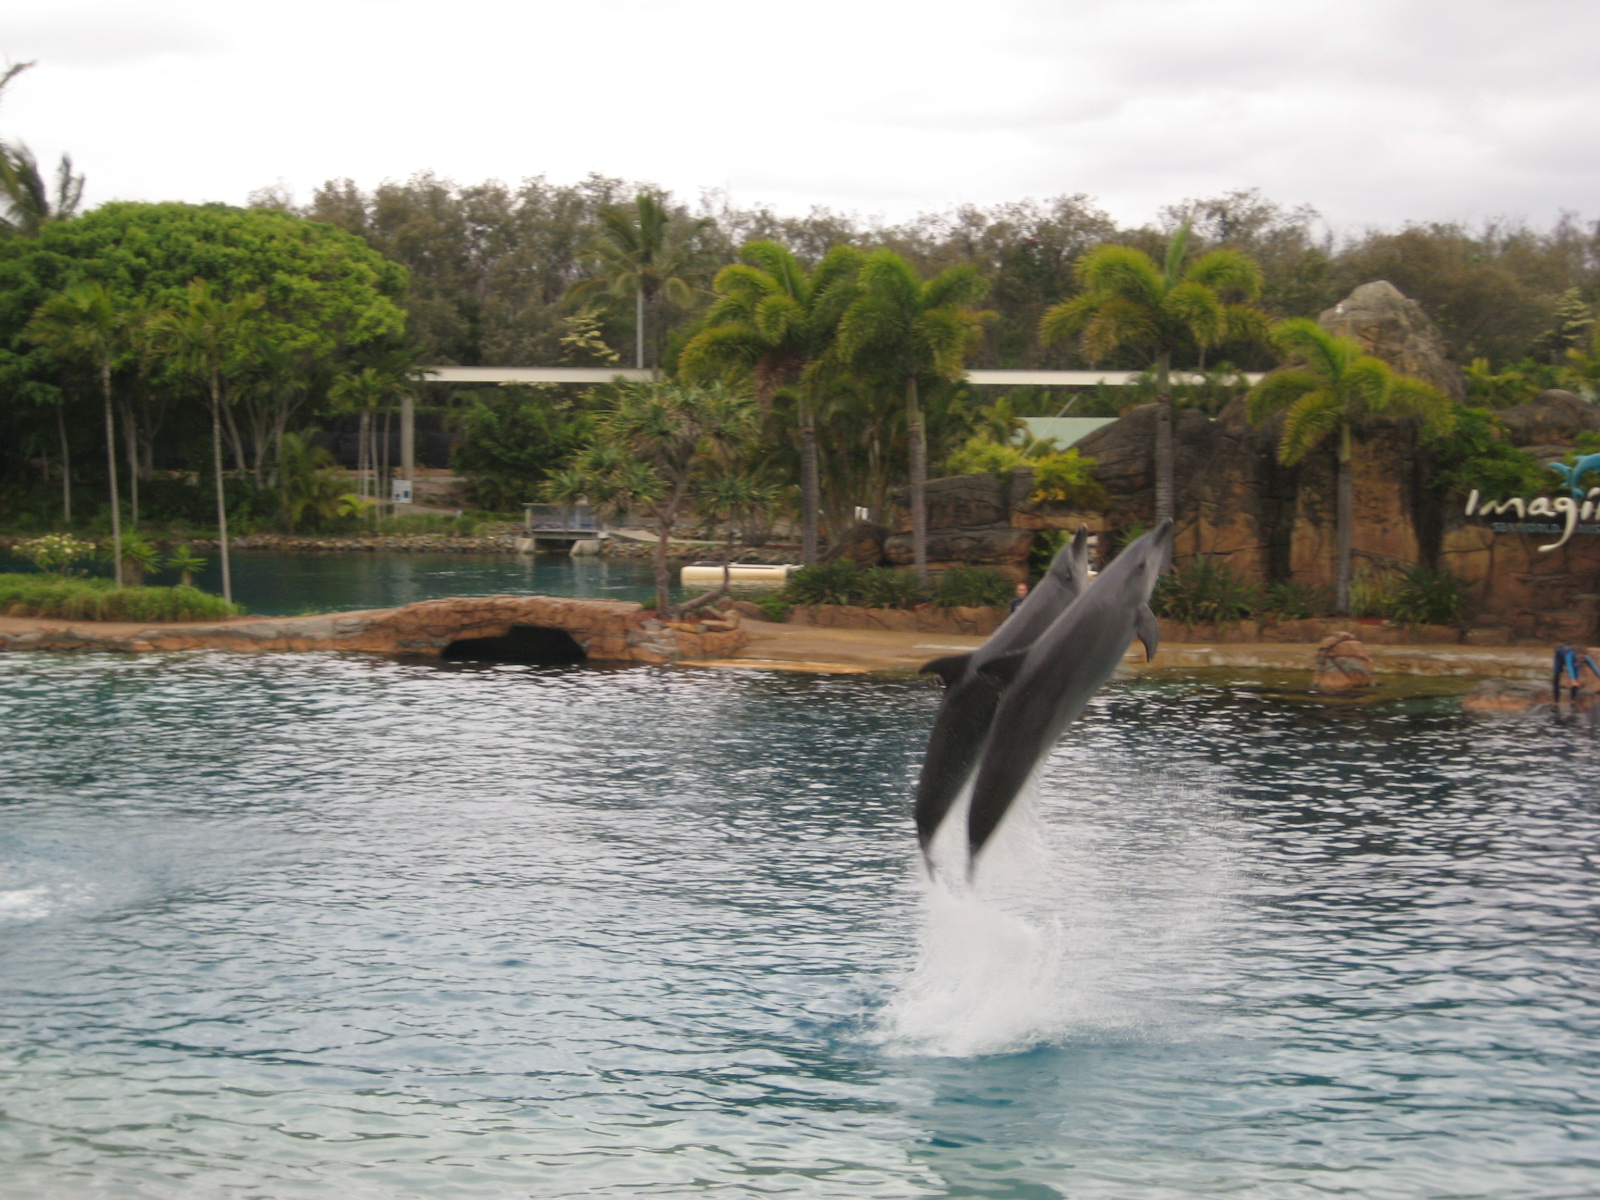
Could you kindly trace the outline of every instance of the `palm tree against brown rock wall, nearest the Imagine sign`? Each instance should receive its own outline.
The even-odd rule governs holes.
[[[1437,387],[1397,374],[1382,358],[1373,358],[1349,338],[1336,338],[1312,320],[1288,320],[1272,331],[1272,344],[1286,363],[1245,398],[1253,422],[1285,413],[1278,462],[1299,462],[1330,437],[1338,438],[1338,587],[1334,608],[1350,611],[1350,531],[1354,488],[1350,443],[1368,416],[1402,413],[1422,419],[1427,435],[1448,434],[1456,424],[1454,406]]]

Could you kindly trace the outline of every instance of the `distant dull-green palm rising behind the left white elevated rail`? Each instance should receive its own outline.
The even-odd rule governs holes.
[[[634,336],[637,365],[645,366],[645,328],[650,315],[650,366],[661,362],[662,307],[686,306],[694,294],[688,283],[701,230],[709,218],[688,221],[669,210],[659,195],[640,192],[632,205],[600,210],[600,230],[586,258],[600,267],[597,278],[581,280],[568,291],[571,299],[595,293],[634,296]]]

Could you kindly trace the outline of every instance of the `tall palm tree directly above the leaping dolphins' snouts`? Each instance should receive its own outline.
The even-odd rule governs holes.
[[[1213,250],[1187,267],[1189,226],[1166,245],[1162,266],[1134,246],[1096,246],[1077,264],[1083,291],[1038,322],[1046,346],[1078,338],[1090,362],[1117,349],[1155,357],[1155,520],[1173,515],[1173,355],[1224,341],[1266,336],[1261,267],[1237,250]]]

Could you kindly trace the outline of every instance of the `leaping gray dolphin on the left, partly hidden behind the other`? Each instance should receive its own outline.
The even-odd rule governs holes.
[[[982,667],[998,658],[1027,650],[1034,638],[1088,587],[1088,526],[1080,525],[1070,542],[1061,547],[1038,586],[1027,594],[1018,610],[970,654],[936,658],[922,670],[944,680],[944,701],[933,720],[928,754],[917,779],[917,842],[923,856],[933,835],[978,768],[978,758],[989,736],[989,722],[1000,704],[998,682],[982,674]]]

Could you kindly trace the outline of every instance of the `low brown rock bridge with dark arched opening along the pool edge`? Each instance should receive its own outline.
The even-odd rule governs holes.
[[[422,600],[326,616],[134,622],[0,619],[0,650],[355,650],[451,659],[674,662],[723,658],[749,643],[726,619],[658,621],[621,600],[490,595]]]

